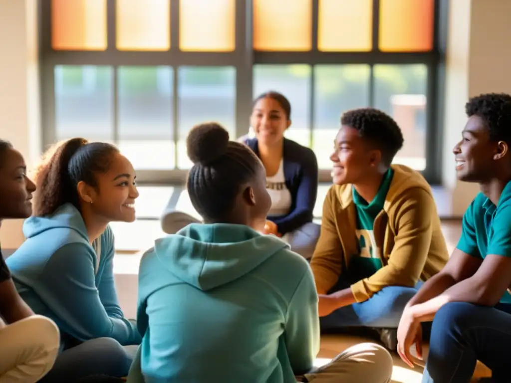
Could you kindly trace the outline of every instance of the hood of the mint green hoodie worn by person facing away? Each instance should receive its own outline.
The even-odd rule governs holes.
[[[190,224],[155,242],[162,267],[180,280],[207,291],[251,272],[289,245],[248,226]]]

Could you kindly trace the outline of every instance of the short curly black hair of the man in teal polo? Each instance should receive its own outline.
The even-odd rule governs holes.
[[[465,105],[467,116],[476,115],[484,121],[493,141],[511,145],[511,95],[486,93],[473,97]]]

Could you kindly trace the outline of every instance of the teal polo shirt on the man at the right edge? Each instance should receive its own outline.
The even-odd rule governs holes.
[[[511,257],[511,181],[497,206],[479,193],[465,212],[461,228],[458,250],[480,259],[486,254]],[[500,302],[511,303],[511,295],[505,292]]]

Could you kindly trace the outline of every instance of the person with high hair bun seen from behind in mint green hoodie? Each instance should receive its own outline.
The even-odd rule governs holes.
[[[390,354],[375,344],[315,366],[314,278],[289,245],[261,234],[271,200],[259,158],[215,123],[194,127],[187,148],[188,193],[204,223],[142,257],[143,339],[128,382],[388,382]]]

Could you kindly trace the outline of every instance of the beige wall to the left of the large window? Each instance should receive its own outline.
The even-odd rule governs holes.
[[[0,0],[0,137],[10,140],[28,165],[39,155],[36,0]],[[23,241],[21,221],[5,221],[4,248]]]

